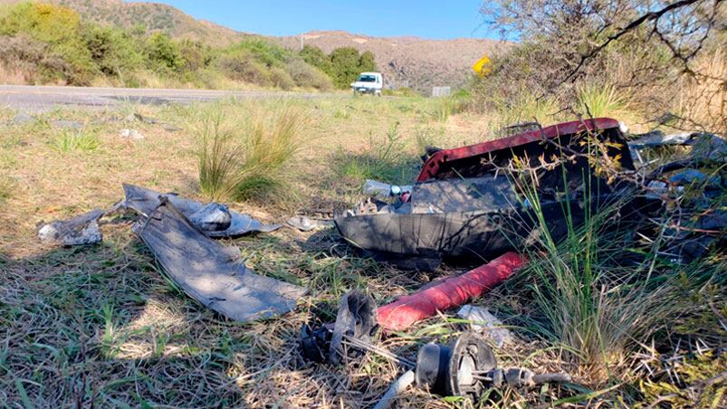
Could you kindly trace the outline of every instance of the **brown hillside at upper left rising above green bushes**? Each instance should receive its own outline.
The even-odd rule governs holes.
[[[0,0],[2,4],[20,0]],[[176,7],[158,3],[126,3],[123,0],[44,0],[77,11],[85,19],[123,28],[142,26],[176,38],[190,38],[211,45],[225,46],[239,41],[243,33],[218,24],[197,20]]]

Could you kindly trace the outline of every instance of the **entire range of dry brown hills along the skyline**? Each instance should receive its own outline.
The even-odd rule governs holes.
[[[19,0],[0,0],[2,4]],[[245,33],[197,20],[170,5],[126,3],[122,0],[47,0],[77,11],[88,21],[122,28],[141,26],[147,32],[161,31],[174,38],[191,38],[214,46],[228,46]],[[390,87],[410,87],[425,94],[434,86],[464,85],[470,67],[483,54],[492,55],[509,46],[494,40],[458,38],[427,40],[418,37],[371,37],[344,31],[309,32],[295,36],[269,37],[283,46],[299,50],[303,43],[329,53],[340,47],[354,47],[376,56],[379,71]]]

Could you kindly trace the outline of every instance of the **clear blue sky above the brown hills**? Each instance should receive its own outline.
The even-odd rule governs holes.
[[[246,33],[345,30],[373,36],[497,38],[482,25],[482,0],[152,0]]]

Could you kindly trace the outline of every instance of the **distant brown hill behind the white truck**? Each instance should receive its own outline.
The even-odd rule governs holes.
[[[464,84],[472,64],[483,54],[492,55],[509,46],[495,40],[457,38],[426,40],[418,37],[370,37],[343,31],[309,32],[279,37],[286,47],[300,49],[304,44],[331,52],[339,47],[355,47],[376,55],[378,69],[387,84],[408,86],[428,93],[434,86],[458,87]]]

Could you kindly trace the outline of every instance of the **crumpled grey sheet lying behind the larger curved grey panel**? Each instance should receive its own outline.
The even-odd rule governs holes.
[[[121,207],[128,207],[129,209],[143,215],[151,214],[151,212],[158,207],[159,196],[162,194],[135,185],[123,186],[126,199],[120,204]],[[206,205],[195,202],[194,200],[185,199],[172,194],[167,194],[165,196],[167,196],[168,200],[179,212],[184,214],[187,218],[194,218],[198,223],[201,223],[201,225],[197,224],[197,227],[209,237],[237,237],[253,232],[270,233],[282,227],[280,224],[262,224],[247,214],[240,214],[227,209],[227,212],[230,214],[229,226],[225,230],[206,230],[205,227],[212,227],[213,225],[216,225],[218,228],[224,224],[222,223],[224,222],[223,219],[220,218],[222,217],[221,213],[224,213],[224,210],[222,210],[221,207],[224,206],[208,204],[207,206],[213,206],[211,208],[207,207],[206,209]]]

